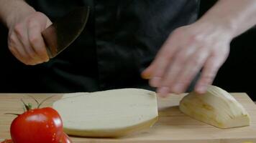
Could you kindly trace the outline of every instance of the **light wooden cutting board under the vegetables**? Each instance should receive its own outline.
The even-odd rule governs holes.
[[[42,100],[55,95],[45,103],[51,106],[52,102],[60,99],[63,94],[32,94]],[[166,99],[158,99],[159,120],[151,129],[120,139],[92,139],[72,137],[73,142],[171,142],[171,143],[256,143],[256,105],[244,93],[232,94],[251,116],[251,126],[233,129],[217,129],[210,125],[198,122],[181,113],[178,103],[185,94],[171,95]],[[20,99],[32,102],[25,94],[0,94],[0,140],[10,138],[9,126],[14,119],[6,112],[21,113]],[[34,103],[34,102],[33,102]]]

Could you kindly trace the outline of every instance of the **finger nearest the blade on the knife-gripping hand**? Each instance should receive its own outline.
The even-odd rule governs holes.
[[[48,61],[49,56],[47,55],[45,42],[42,39],[40,24],[35,21],[29,21],[28,29],[28,38],[32,49],[42,61]]]

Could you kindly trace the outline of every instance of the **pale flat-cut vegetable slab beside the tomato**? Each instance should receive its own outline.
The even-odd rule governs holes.
[[[158,116],[156,94],[145,89],[65,94],[53,108],[65,132],[81,137],[121,137],[152,127]]]

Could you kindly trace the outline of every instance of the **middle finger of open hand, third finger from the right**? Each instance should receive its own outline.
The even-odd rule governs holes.
[[[163,77],[163,82],[161,83],[160,89],[157,89],[162,96],[165,96],[167,91],[171,92],[173,89],[170,89],[172,85],[175,83],[175,79],[177,79],[180,72],[183,70],[183,66],[186,64],[188,58],[193,54],[196,49],[191,46],[189,49],[182,49],[178,52],[178,54],[174,57],[173,63],[169,64],[168,70],[165,70],[165,75]],[[167,90],[167,88],[169,88]]]

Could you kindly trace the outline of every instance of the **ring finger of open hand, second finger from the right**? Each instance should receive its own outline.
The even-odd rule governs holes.
[[[189,84],[191,84],[193,77],[200,71],[208,56],[209,52],[207,52],[206,49],[198,48],[197,51],[188,58],[182,71],[176,77],[175,82],[170,86],[170,92],[177,94],[185,92]]]

